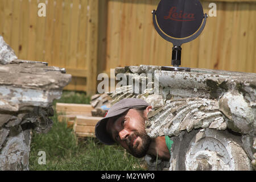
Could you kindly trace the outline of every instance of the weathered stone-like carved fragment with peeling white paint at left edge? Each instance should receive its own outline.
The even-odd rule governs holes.
[[[19,60],[0,36],[0,170],[27,170],[31,130],[47,133],[54,99],[71,81],[65,69]]]

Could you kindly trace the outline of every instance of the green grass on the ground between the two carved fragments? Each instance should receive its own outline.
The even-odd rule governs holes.
[[[84,93],[64,92],[57,102],[89,104]],[[56,104],[56,101],[53,102]],[[97,138],[78,140],[67,123],[52,117],[53,126],[47,134],[33,131],[30,170],[145,170],[142,159],[128,154],[121,146],[106,146]],[[38,152],[46,152],[46,164],[38,164]]]

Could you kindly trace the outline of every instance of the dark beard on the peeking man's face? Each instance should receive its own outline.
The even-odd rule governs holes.
[[[141,145],[138,146],[137,143],[133,144],[131,143],[133,141],[134,137],[140,137],[141,138]],[[129,147],[128,152],[135,156],[136,158],[142,158],[147,154],[148,148],[151,143],[151,138],[147,135],[146,131],[139,133],[138,131],[135,131],[133,135],[130,135],[126,139],[126,143]]]

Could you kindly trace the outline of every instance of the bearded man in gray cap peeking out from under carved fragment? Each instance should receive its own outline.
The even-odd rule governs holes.
[[[146,133],[145,122],[150,110],[152,106],[144,100],[123,99],[97,122],[96,137],[107,145],[120,144],[136,158],[150,155],[169,161],[172,140],[168,136],[150,138]]]

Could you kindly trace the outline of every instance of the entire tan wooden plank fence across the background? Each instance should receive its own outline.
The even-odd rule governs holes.
[[[19,59],[66,68],[65,89],[96,92],[97,74],[125,65],[170,65],[172,44],[152,24],[160,0],[0,0],[0,35]],[[46,16],[38,4],[46,3]],[[201,0],[217,16],[183,44],[181,66],[256,72],[256,0]]]

